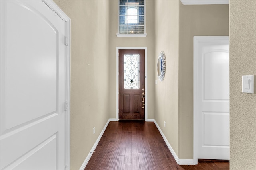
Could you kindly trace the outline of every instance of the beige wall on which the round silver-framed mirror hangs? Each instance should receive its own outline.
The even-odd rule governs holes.
[[[166,139],[178,155],[178,62],[179,62],[179,1],[155,2],[155,119]],[[156,65],[159,53],[166,55],[166,74],[161,82]],[[164,121],[166,127],[164,127]]]

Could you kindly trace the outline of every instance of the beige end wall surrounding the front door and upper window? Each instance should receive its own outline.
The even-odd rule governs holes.
[[[148,119],[154,119],[154,1],[146,1],[147,37],[116,37],[118,0],[110,0],[110,118],[116,118],[116,47],[148,47]]]

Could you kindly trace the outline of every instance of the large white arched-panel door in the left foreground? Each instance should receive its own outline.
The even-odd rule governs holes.
[[[0,1],[0,169],[65,169],[66,23],[43,1]]]

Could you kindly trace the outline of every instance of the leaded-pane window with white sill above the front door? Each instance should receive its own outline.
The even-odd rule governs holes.
[[[117,37],[146,37],[146,0],[118,1]]]

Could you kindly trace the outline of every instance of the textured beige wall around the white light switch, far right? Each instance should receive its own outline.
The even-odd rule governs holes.
[[[256,169],[256,95],[242,75],[256,74],[256,1],[230,1],[230,170]]]

